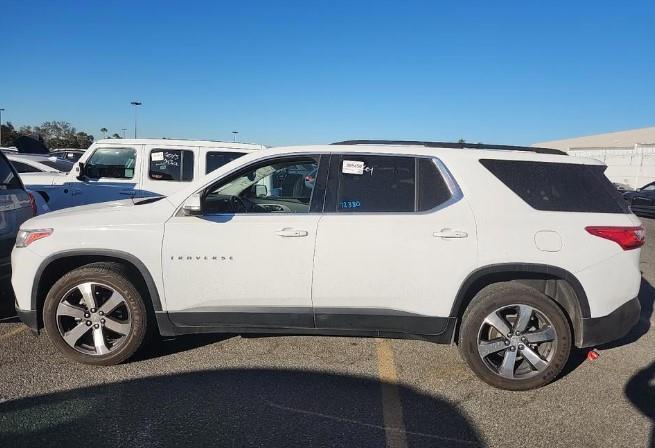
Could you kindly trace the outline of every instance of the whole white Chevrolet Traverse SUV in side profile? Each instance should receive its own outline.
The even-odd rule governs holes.
[[[258,151],[167,198],[29,220],[17,311],[89,364],[150,330],[410,337],[539,387],[639,316],[644,232],[604,169],[467,144]]]

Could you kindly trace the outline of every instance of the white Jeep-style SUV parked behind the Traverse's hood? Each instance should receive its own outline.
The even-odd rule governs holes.
[[[108,139],[84,152],[66,176],[22,175],[52,210],[172,194],[262,145],[193,140]],[[38,173],[37,173],[38,174]]]

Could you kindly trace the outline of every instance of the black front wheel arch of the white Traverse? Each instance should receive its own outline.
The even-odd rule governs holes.
[[[148,268],[134,255],[112,249],[75,249],[47,257],[36,271],[32,284],[31,309],[37,313],[38,328],[43,328],[43,302],[54,283],[67,272],[96,262],[115,262],[126,266],[135,277],[137,288],[145,293],[152,311],[162,310],[159,291]]]

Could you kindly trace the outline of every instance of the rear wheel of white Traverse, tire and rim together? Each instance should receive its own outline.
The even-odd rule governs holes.
[[[544,386],[571,351],[566,316],[546,295],[515,283],[491,285],[464,313],[459,348],[483,381],[508,390]]]

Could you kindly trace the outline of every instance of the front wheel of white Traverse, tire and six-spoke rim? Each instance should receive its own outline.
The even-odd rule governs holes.
[[[68,358],[113,365],[141,347],[147,313],[122,265],[93,263],[53,285],[44,303],[43,321],[52,342]]]

